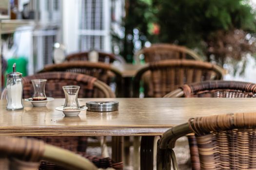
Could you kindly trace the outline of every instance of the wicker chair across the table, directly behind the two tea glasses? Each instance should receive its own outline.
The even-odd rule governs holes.
[[[32,79],[47,79],[45,86],[45,93],[47,97],[65,98],[62,86],[65,85],[79,85],[79,98],[115,98],[115,94],[110,87],[105,83],[99,81],[97,78],[74,73],[74,72],[43,72],[32,76],[23,77],[23,98],[30,98],[33,95],[34,88]],[[6,99],[6,90],[3,90],[2,99]],[[33,136],[34,137],[34,136]],[[72,152],[85,153],[87,145],[86,136],[39,136],[35,137],[43,140],[49,144],[59,146]],[[104,150],[102,151],[104,152]],[[98,157],[88,157],[89,159],[99,160]],[[109,158],[101,158],[97,166],[104,168],[112,165],[112,160]],[[118,164],[118,163],[117,163]],[[113,164],[114,166],[117,164]],[[119,164],[118,164],[119,166]],[[52,163],[41,164],[41,169],[54,169],[55,165]]]

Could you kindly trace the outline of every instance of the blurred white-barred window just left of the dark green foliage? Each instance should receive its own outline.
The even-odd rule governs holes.
[[[107,17],[110,18],[110,8],[107,9],[104,7],[109,1],[110,0],[81,0],[79,15],[79,50],[109,50],[107,45],[110,42],[106,43],[106,38],[110,35],[110,30],[105,19]]]

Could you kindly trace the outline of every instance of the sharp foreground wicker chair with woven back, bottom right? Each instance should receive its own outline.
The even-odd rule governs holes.
[[[177,138],[195,133],[200,170],[255,170],[256,113],[222,114],[189,119],[158,140],[157,170],[177,170]]]

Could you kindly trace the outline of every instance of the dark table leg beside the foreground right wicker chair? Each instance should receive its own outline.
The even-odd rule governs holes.
[[[157,163],[159,136],[142,136],[140,144],[140,170],[154,170]]]

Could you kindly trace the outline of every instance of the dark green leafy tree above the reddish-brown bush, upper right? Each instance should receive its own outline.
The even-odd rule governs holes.
[[[255,32],[255,13],[244,0],[156,0],[158,42],[200,47],[218,30]]]

